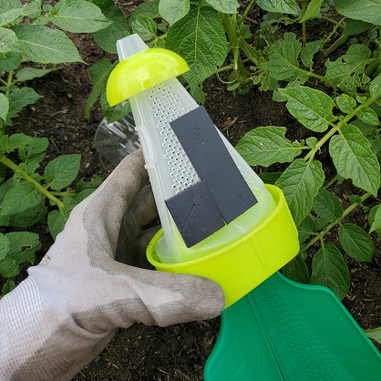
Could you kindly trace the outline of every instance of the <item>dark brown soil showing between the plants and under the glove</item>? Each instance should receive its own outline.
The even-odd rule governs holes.
[[[84,118],[85,104],[92,88],[88,67],[98,62],[104,53],[91,36],[72,37],[88,65],[64,65],[62,69],[29,84],[43,98],[21,113],[20,118],[15,120],[13,131],[48,138],[51,143],[48,159],[66,153],[81,154],[80,176],[90,178],[98,175],[105,179],[113,166],[94,148],[94,135],[103,118],[98,105],[92,109],[90,118]],[[268,125],[286,127],[289,139],[304,138],[303,129],[297,126],[283,104],[273,102],[270,92],[252,89],[245,96],[233,97],[215,79],[206,82],[205,91],[208,93],[205,108],[233,145],[247,131]],[[345,181],[337,186],[335,193],[345,201],[352,194],[351,183]],[[353,221],[367,227],[363,216],[363,213],[354,212],[345,222]],[[47,231],[40,234],[44,247],[38,252],[36,261],[53,243]],[[357,263],[350,259],[347,262],[351,272],[351,289],[343,302],[345,307],[363,329],[381,326],[378,242],[375,240],[372,263]],[[24,271],[19,281],[25,276]],[[219,328],[220,318],[175,324],[167,328],[135,324],[127,330],[119,330],[108,347],[73,380],[202,380],[203,366]]]

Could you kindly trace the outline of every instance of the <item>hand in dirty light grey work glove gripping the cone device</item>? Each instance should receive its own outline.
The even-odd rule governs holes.
[[[125,211],[129,239],[121,241],[129,247],[155,211],[149,191],[142,190],[147,182],[138,150],[77,205],[42,262],[0,301],[1,380],[70,380],[118,327],[221,313],[223,292],[211,280],[115,261]]]

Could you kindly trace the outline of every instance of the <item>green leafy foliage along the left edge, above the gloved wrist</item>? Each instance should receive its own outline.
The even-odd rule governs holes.
[[[77,202],[99,184],[96,180],[72,186],[79,155],[59,156],[41,171],[48,140],[5,130],[40,98],[26,86],[28,81],[57,70],[56,65],[83,62],[64,31],[95,33],[111,24],[87,0],[59,0],[54,7],[42,3],[0,0],[0,275],[7,279],[1,295],[15,287],[12,278],[20,264],[33,263],[41,247],[37,233],[16,230],[47,223],[55,238]]]

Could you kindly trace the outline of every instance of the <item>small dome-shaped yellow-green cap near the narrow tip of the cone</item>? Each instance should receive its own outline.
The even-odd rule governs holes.
[[[118,105],[147,88],[178,77],[190,67],[177,53],[161,47],[143,50],[119,62],[106,88],[108,104]]]

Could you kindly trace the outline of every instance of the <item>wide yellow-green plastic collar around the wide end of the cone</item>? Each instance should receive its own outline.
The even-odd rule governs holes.
[[[225,293],[225,308],[263,283],[299,252],[298,232],[283,191],[266,185],[276,203],[266,221],[221,250],[183,263],[160,263],[156,245],[162,231],[149,243],[147,258],[157,270],[201,275],[219,283]]]

